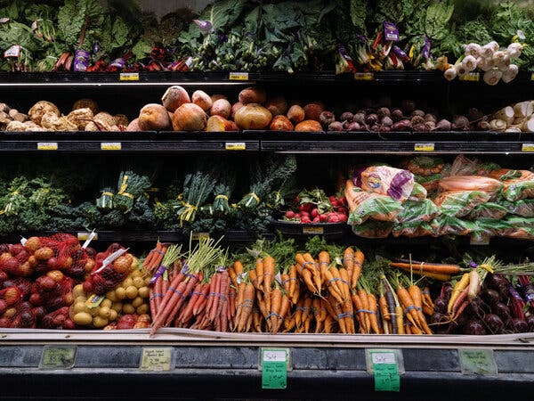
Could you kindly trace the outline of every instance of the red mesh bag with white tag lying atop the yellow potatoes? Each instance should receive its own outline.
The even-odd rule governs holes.
[[[98,253],[96,266],[84,282],[84,291],[103,295],[117,287],[130,272],[132,257],[125,252],[124,247],[114,243],[105,252]],[[130,260],[129,264],[126,259]]]

